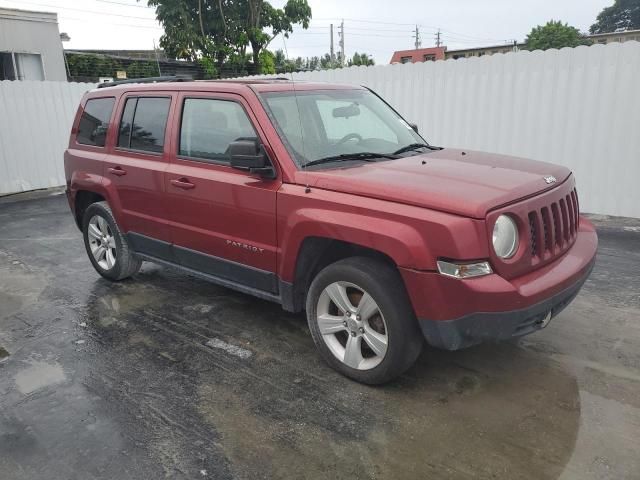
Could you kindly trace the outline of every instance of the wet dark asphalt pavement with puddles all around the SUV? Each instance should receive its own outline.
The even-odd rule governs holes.
[[[640,221],[543,331],[383,387],[302,315],[145,263],[103,280],[64,196],[0,199],[0,478],[639,479]]]

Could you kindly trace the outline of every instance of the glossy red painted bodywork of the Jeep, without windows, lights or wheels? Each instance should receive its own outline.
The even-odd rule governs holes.
[[[296,265],[306,239],[329,238],[367,247],[395,263],[417,317],[435,321],[522,309],[585,278],[593,264],[597,237],[593,226],[577,215],[577,196],[575,203],[572,200],[575,181],[568,169],[445,149],[350,168],[300,170],[257,95],[294,88],[357,87],[185,82],[123,85],[87,93],[65,152],[72,210],[79,191],[99,194],[109,202],[123,232],[134,230],[272,272],[287,284],[296,281]],[[130,95],[172,98],[161,155],[115,148],[117,124]],[[75,137],[86,101],[106,96],[116,98],[116,107],[105,148],[78,144]],[[179,158],[180,105],[185,96],[240,102],[273,162],[276,178]],[[127,174],[119,175],[117,169]],[[547,175],[553,175],[557,183],[547,185]],[[183,181],[197,188],[175,188],[175,182]],[[561,221],[567,222],[566,239],[535,255],[530,241],[547,239],[540,225],[532,233],[540,220],[535,216],[530,220],[529,215],[565,198],[568,203]],[[498,258],[491,246],[492,222],[505,212],[518,219],[523,240],[509,260]],[[440,258],[488,259],[494,273],[466,280],[446,277],[437,273]],[[280,298],[277,293],[273,297]]]

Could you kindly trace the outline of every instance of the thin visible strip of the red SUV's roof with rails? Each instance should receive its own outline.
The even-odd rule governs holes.
[[[144,81],[144,79],[141,79]],[[91,93],[99,93],[108,95],[109,93],[118,92],[153,92],[153,91],[211,91],[211,92],[227,92],[227,93],[243,93],[247,90],[255,92],[286,92],[286,91],[308,91],[308,90],[353,90],[362,89],[358,85],[347,85],[338,83],[324,82],[303,82],[292,81],[287,78],[244,78],[233,80],[176,80],[176,81],[159,81],[147,83],[117,83],[114,85],[102,85]]]

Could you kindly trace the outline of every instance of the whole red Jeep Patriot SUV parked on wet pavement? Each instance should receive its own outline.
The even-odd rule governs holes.
[[[64,155],[103,277],[147,260],[306,310],[322,357],[375,384],[425,338],[545,327],[591,272],[564,167],[434,147],[363,87],[158,80],[88,92]]]

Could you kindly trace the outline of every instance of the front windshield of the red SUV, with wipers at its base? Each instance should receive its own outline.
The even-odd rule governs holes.
[[[261,96],[300,167],[340,155],[390,155],[425,143],[368,90],[267,92]]]

